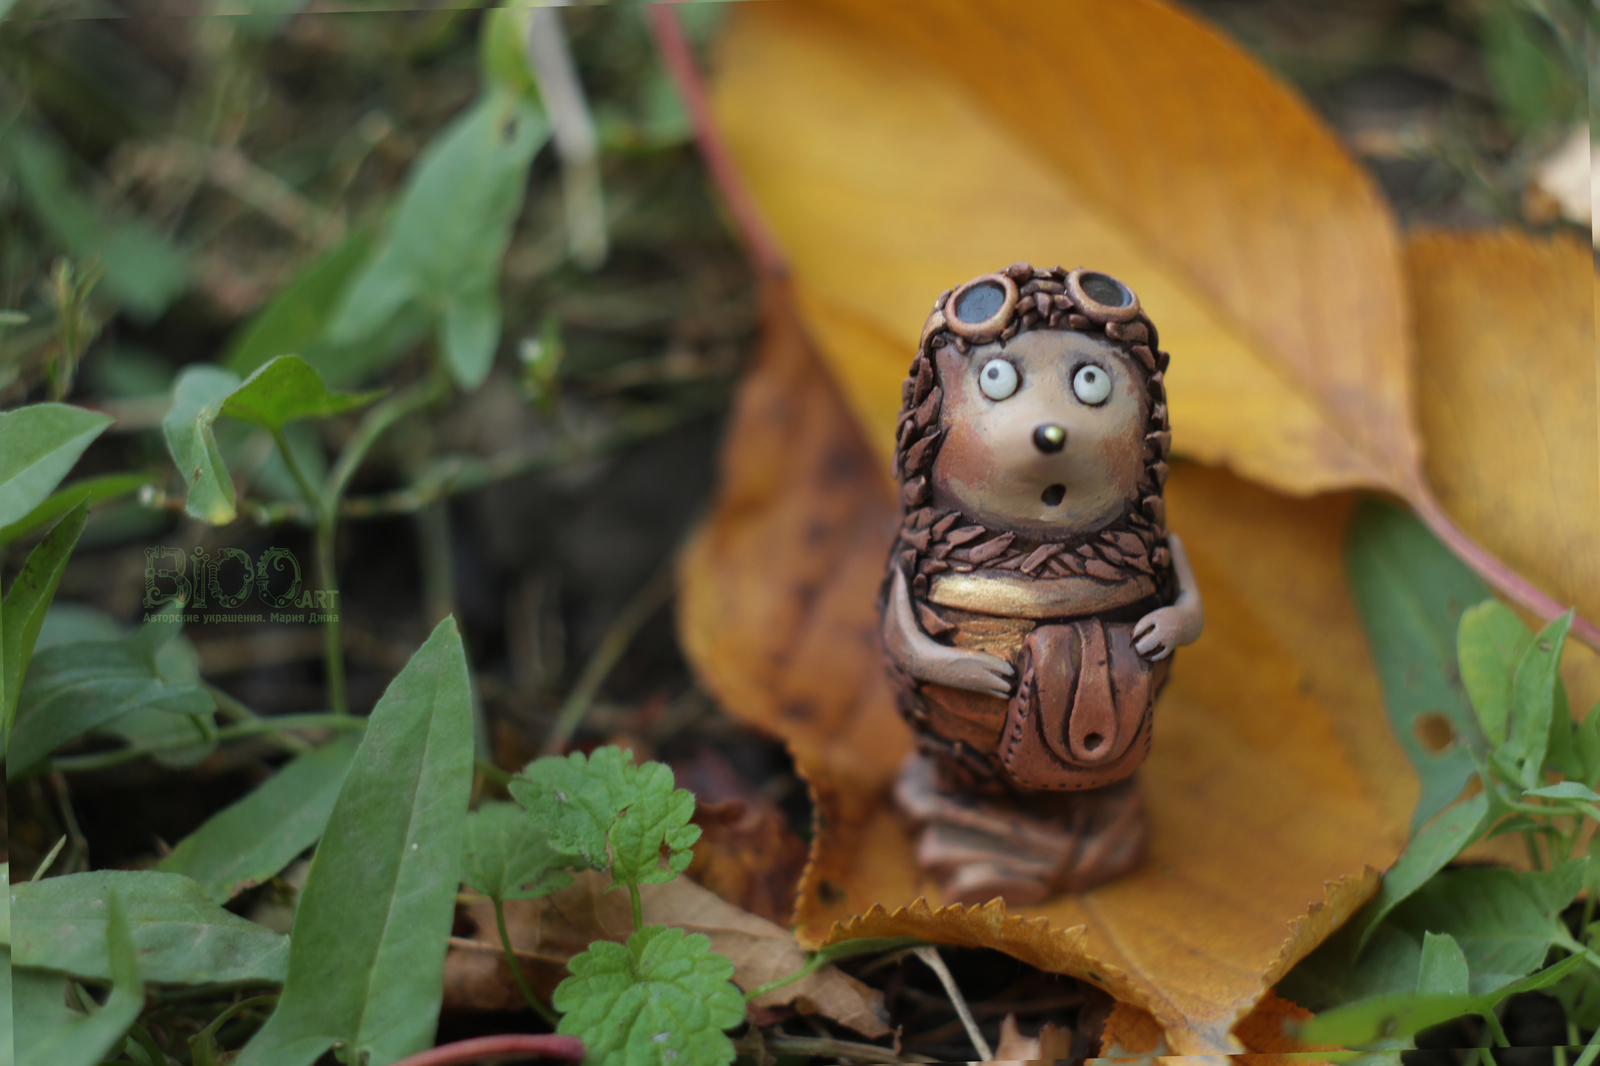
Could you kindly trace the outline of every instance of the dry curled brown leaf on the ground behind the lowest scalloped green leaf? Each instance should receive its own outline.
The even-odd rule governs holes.
[[[506,903],[506,932],[530,986],[549,999],[566,976],[566,960],[590,941],[624,941],[634,928],[626,892],[606,892],[610,879],[579,874],[562,892],[541,900]],[[806,952],[789,930],[742,911],[691,880],[643,885],[645,922],[675,925],[704,933],[733,962],[733,983],[749,992],[798,970]],[[506,970],[494,927],[494,906],[486,900],[466,909],[477,928],[472,948],[454,943],[445,959],[445,1010],[515,1010],[522,997]],[[867,1037],[888,1036],[883,996],[837,967],[774,989],[755,1007],[792,1007],[819,1013]]]

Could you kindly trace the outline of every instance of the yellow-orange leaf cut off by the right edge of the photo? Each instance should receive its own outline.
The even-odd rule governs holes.
[[[1456,522],[1600,618],[1600,381],[1590,250],[1570,237],[1430,232],[1406,243],[1427,477]],[[1174,360],[1176,362],[1176,360]],[[1573,709],[1600,656],[1568,643]]]

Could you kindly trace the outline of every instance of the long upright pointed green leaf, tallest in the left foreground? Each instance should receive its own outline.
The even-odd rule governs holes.
[[[432,1045],[470,787],[467,659],[446,618],[373,709],[294,911],[283,997],[235,1066]]]

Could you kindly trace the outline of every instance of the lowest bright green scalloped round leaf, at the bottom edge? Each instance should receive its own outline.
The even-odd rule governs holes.
[[[725,1066],[744,1020],[733,964],[710,940],[646,925],[627,944],[595,941],[555,989],[558,1032],[582,1039],[586,1061],[619,1066]]]

